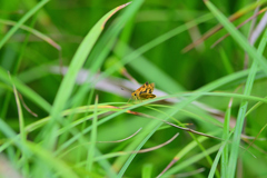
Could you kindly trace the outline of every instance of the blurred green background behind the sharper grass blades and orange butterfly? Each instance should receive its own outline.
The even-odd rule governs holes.
[[[11,0],[11,1],[0,1],[0,40],[3,40],[7,37],[8,32],[13,26],[11,21],[18,22],[27,12],[33,9],[39,1],[34,0]],[[129,10],[129,13],[126,13],[127,8],[130,9],[134,4],[139,3],[136,9],[132,8],[132,11]],[[236,13],[238,10],[244,7],[249,7],[255,1],[211,1],[226,17],[229,17]],[[51,67],[57,66],[69,66],[75,53],[77,52],[78,47],[81,41],[88,33],[88,31],[97,23],[97,21],[102,18],[111,9],[127,3],[127,1],[103,1],[103,0],[58,0],[49,1],[42,8],[29,18],[24,22],[24,26],[30,28],[30,31],[37,30],[40,33],[44,34],[44,38],[41,36],[33,36],[29,30],[19,28],[4,44],[0,48],[0,108],[1,108],[1,120],[9,126],[14,134],[21,131],[18,109],[16,103],[16,98],[13,95],[12,82],[8,79],[8,71],[10,75],[21,81],[22,85],[28,86],[31,90],[38,93],[48,103],[53,107],[55,98],[58,95],[59,86],[62,81],[62,76],[51,72]],[[204,1],[162,1],[162,0],[147,0],[147,1],[134,1],[127,8],[120,10],[113,14],[106,23],[106,27],[93,44],[92,52],[89,55],[88,60],[85,62],[85,69],[93,70],[96,72],[105,72],[112,68],[116,62],[119,62],[121,66],[113,70],[112,73],[108,73],[108,77],[117,77],[119,79],[129,80],[121,71],[126,69],[128,73],[136,79],[140,85],[146,81],[155,82],[156,89],[165,91],[167,95],[174,93],[190,93],[194,90],[197,90],[206,85],[211,82],[219,81],[220,78],[225,76],[235,75],[238,71],[246,70],[245,62],[248,61],[248,67],[251,65],[251,59],[249,59],[244,51],[244,49],[238,44],[231,37],[226,38],[215,48],[210,48],[211,44],[218,40],[220,37],[227,33],[225,29],[214,32],[210,38],[201,42],[199,46],[194,48],[188,52],[184,52],[182,49],[190,44],[192,41],[201,38],[204,33],[212,29],[215,26],[219,24],[214,14],[205,6]],[[245,10],[245,13],[241,13],[240,18],[234,21],[234,24],[237,26],[249,17],[254,14],[255,8],[251,10]],[[202,17],[202,22],[199,22],[199,19]],[[123,21],[122,19],[126,18]],[[258,22],[263,18],[263,14],[259,14],[254,19],[254,22],[249,21],[243,26],[239,31],[247,39],[249,39],[253,30],[257,27]],[[122,21],[121,30],[116,29],[116,26]],[[170,34],[171,30],[181,27],[186,30],[177,32],[171,38],[162,40],[162,42],[157,42],[158,38]],[[116,31],[117,30],[117,31]],[[261,38],[259,33],[259,39]],[[61,50],[55,48],[50,43],[46,42],[43,39],[56,41]],[[256,40],[255,47],[258,46],[259,39]],[[113,43],[112,43],[113,40]],[[119,42],[122,41],[127,48],[121,48]],[[105,55],[106,47],[110,44],[110,49]],[[149,50],[146,50],[136,59],[132,59],[130,62],[123,63],[123,56],[129,55],[129,49],[136,51],[151,42],[155,44]],[[265,56],[264,52],[263,56]],[[103,62],[97,68],[92,69],[92,66],[101,60],[100,56],[103,55]],[[249,60],[247,60],[249,59]],[[121,62],[120,62],[121,61]],[[220,92],[234,92],[243,93],[243,87],[246,81],[246,76],[234,80],[226,85],[219,86],[215,91]],[[112,83],[112,81],[111,81]],[[16,88],[17,82],[14,82]],[[113,83],[115,86],[117,83]],[[85,86],[85,85],[83,85]],[[80,85],[72,86],[71,96],[67,97],[68,101],[63,108],[73,109],[80,106],[92,105],[95,101],[96,95],[99,96],[99,105],[103,106],[117,106],[122,107],[127,106],[126,98],[121,95],[110,93],[95,88],[92,85],[85,93],[81,92]],[[103,83],[105,87],[105,83]],[[127,88],[128,86],[120,86],[119,88]],[[266,96],[266,75],[258,73],[256,76],[251,96],[257,96],[264,98]],[[136,88],[137,89],[137,88]],[[107,88],[109,90],[109,88]],[[18,88],[20,92],[20,88]],[[27,91],[26,91],[27,92]],[[157,95],[157,93],[156,93]],[[76,102],[76,97],[85,97],[78,102]],[[90,98],[91,96],[91,98]],[[23,102],[32,110],[38,113],[38,117],[34,118],[31,113],[26,110],[26,107],[22,107],[24,127],[31,123],[38,123],[38,120],[41,120],[50,116],[50,111],[38,106],[31,98],[22,93]],[[20,99],[21,100],[21,99]],[[225,111],[227,110],[229,97],[218,97],[218,96],[204,96],[198,100],[199,103],[205,103],[204,108],[198,108],[194,105],[187,106],[185,110],[175,115],[174,117],[177,120],[180,120],[185,123],[191,123],[188,127],[207,134],[215,135],[216,137],[221,137],[222,135],[222,123],[217,122],[218,118],[224,119]],[[21,101],[22,102],[22,101]],[[112,102],[112,103],[109,103]],[[118,103],[115,103],[118,102]],[[251,108],[257,103],[257,101],[250,101],[248,108]],[[142,105],[139,102],[139,105]],[[172,103],[168,102],[157,102],[158,106],[151,106],[160,110],[161,112],[168,113],[166,110],[168,106]],[[234,99],[234,105],[231,108],[231,121],[235,122],[237,117],[238,108],[240,105],[240,98]],[[195,108],[196,107],[196,108]],[[207,107],[207,108],[206,108]],[[210,112],[208,108],[214,109],[218,112],[218,116],[215,112]],[[244,125],[244,135],[256,137],[260,129],[266,125],[267,113],[266,105],[260,105],[258,108],[253,110],[246,117],[246,123]],[[148,113],[157,117],[159,113],[152,110],[149,107],[139,107],[134,109],[144,113]],[[109,112],[98,115],[99,119],[106,118],[117,110],[108,110]],[[59,123],[59,128],[68,128],[69,125],[75,123],[76,120],[79,120],[82,117],[86,117],[87,113],[91,115],[93,110],[83,111],[83,113],[77,113],[70,116],[70,121],[63,121]],[[72,115],[72,113],[71,113]],[[169,113],[168,113],[169,115]],[[67,117],[68,118],[68,117]],[[159,117],[164,118],[164,117]],[[140,116],[122,113],[111,120],[102,123],[97,129],[97,140],[119,140],[126,138],[137,131],[140,127],[148,127],[151,125],[152,119],[144,118]],[[154,120],[152,120],[154,121]],[[217,122],[215,125],[215,122]],[[16,145],[11,144],[7,148],[3,147],[4,144],[10,141],[11,136],[7,136],[4,126],[1,127],[1,152],[4,155],[11,167],[14,168],[14,171],[24,177],[34,177],[38,171],[41,171],[42,167],[40,164],[44,161],[48,166],[42,170],[41,177],[61,177],[60,169],[67,172],[67,169],[73,169],[73,172],[79,175],[79,177],[103,177],[110,176],[110,172],[107,172],[107,169],[113,169],[115,175],[120,172],[122,165],[126,160],[121,160],[120,157],[105,158],[110,165],[106,167],[101,161],[95,161],[92,168],[87,169],[83,166],[80,166],[82,161],[87,161],[88,144],[87,148],[73,149],[73,151],[68,152],[67,156],[58,157],[53,155],[60,148],[63,142],[72,138],[77,132],[82,131],[85,128],[90,127],[91,121],[85,121],[76,127],[76,130],[71,132],[67,130],[65,135],[57,136],[56,144],[53,142],[53,149],[47,149],[43,146],[43,132],[46,130],[46,123],[40,125],[38,129],[31,131],[27,135],[27,139],[36,144],[37,146],[43,147],[43,151],[47,151],[53,156],[57,161],[61,162],[63,166],[60,168],[53,169],[52,159],[46,160],[42,158],[40,152],[32,152],[40,156],[39,158],[23,158],[23,151],[21,148],[18,148]],[[51,127],[53,128],[53,127]],[[77,132],[76,132],[77,131]],[[169,175],[177,175],[177,177],[182,177],[182,174],[186,174],[185,177],[207,177],[210,167],[212,165],[208,159],[214,160],[216,152],[210,154],[209,158],[205,158],[204,149],[209,149],[215,145],[218,145],[220,140],[208,138],[207,141],[202,142],[202,148],[195,146],[194,149],[187,148],[187,146],[192,141],[192,136],[190,136],[185,130],[179,130],[168,125],[162,125],[152,136],[146,141],[144,148],[155,147],[160,145],[168,139],[170,139],[176,132],[179,132],[178,138],[175,141],[164,146],[162,148],[146,152],[137,154],[134,160],[130,161],[130,165],[127,167],[123,172],[123,177],[156,177],[159,175],[167,165],[172,160],[177,154],[182,149],[187,150],[186,156],[181,160],[175,164],[176,168],[179,166],[180,169],[174,170]],[[261,130],[259,138],[266,138],[266,130]],[[44,134],[46,135],[46,134]],[[89,141],[91,134],[80,136],[82,139],[72,142],[70,146],[63,150],[71,150],[76,145],[82,145],[82,141]],[[199,137],[195,135],[195,137]],[[9,138],[9,139],[8,139]],[[144,137],[145,138],[145,137]],[[142,139],[144,139],[142,138]],[[135,139],[131,138],[131,139]],[[140,140],[142,140],[140,139]],[[145,139],[144,139],[145,140]],[[196,140],[195,140],[196,141]],[[250,140],[251,141],[251,140]],[[108,155],[110,152],[117,152],[126,150],[130,146],[131,140],[125,142],[112,142],[112,144],[97,144],[98,154],[95,155]],[[246,148],[248,144],[243,142]],[[31,148],[31,147],[30,147]],[[135,149],[135,148],[132,148]],[[132,150],[131,149],[131,150]],[[237,177],[266,177],[267,170],[267,157],[266,157],[266,140],[256,140],[255,147],[249,148],[248,151],[239,148],[239,152],[243,152],[238,161],[238,174]],[[217,149],[218,150],[218,149]],[[62,152],[62,150],[60,150]],[[60,152],[59,151],[59,152]],[[96,151],[97,152],[97,151]],[[244,154],[245,152],[245,154]],[[195,158],[198,154],[202,156],[201,159],[189,161],[190,158]],[[21,156],[22,155],[22,156]],[[255,155],[257,158],[254,158]],[[46,156],[44,156],[46,157]],[[22,159],[23,158],[23,159]],[[21,160],[22,159],[22,160]],[[21,162],[27,162],[22,165]],[[55,161],[55,162],[57,162]],[[49,166],[49,162],[51,164]],[[107,164],[106,162],[106,164]],[[65,165],[66,164],[66,165]],[[188,164],[182,167],[182,164]],[[66,167],[65,167],[66,166]],[[105,169],[107,168],[107,169]],[[150,169],[151,168],[151,169]],[[202,169],[204,168],[204,169]],[[44,174],[47,171],[47,174]],[[122,174],[122,171],[121,171]],[[148,175],[146,175],[148,174]],[[179,175],[181,174],[181,175]],[[116,177],[111,175],[110,177]],[[167,177],[169,177],[167,174]],[[118,176],[118,175],[117,175]],[[119,175],[118,177],[120,177]],[[65,177],[65,176],[62,176]],[[175,177],[175,176],[174,176]],[[217,168],[216,177],[221,177],[220,166]]]

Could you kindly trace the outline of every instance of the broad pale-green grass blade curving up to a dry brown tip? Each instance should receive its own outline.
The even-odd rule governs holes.
[[[127,6],[127,4],[125,4]],[[77,52],[75,53],[71,63],[69,66],[68,72],[65,76],[58,93],[56,96],[55,102],[53,102],[53,107],[51,110],[51,121],[50,123],[47,126],[47,130],[43,130],[43,135],[44,132],[50,132],[50,137],[46,137],[44,144],[49,147],[51,145],[53,145],[53,141],[51,138],[53,138],[53,135],[57,130],[57,125],[55,125],[55,121],[57,119],[60,119],[60,112],[63,110],[63,108],[66,107],[66,103],[71,95],[71,91],[75,87],[76,83],[76,78],[78,72],[80,71],[82,65],[85,63],[88,55],[90,53],[92,47],[95,46],[98,37],[101,34],[103,27],[107,22],[107,20],[118,10],[120,10],[121,8],[123,8],[125,6],[120,6],[118,8],[115,8],[113,10],[109,11],[107,14],[105,14],[93,27],[92,29],[88,32],[88,34],[85,37],[85,39],[82,40],[82,42],[80,43],[79,48],[77,49]],[[53,128],[53,129],[52,129]],[[48,130],[53,130],[53,131],[48,131]]]

